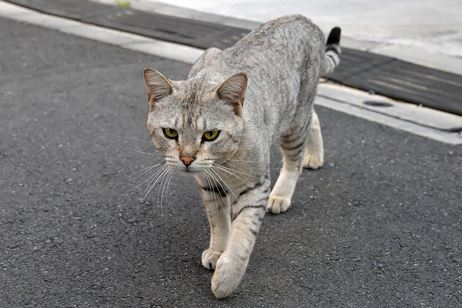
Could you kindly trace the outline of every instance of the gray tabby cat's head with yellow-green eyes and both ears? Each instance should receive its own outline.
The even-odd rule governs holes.
[[[148,91],[148,130],[168,166],[201,172],[233,156],[243,131],[245,73],[232,75],[221,84],[194,78],[171,81],[152,68],[145,68],[143,75]]]

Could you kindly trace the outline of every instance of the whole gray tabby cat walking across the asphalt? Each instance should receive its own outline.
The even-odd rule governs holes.
[[[215,269],[217,298],[232,294],[244,275],[265,209],[286,211],[302,167],[323,164],[313,100],[319,76],[339,63],[339,41],[340,28],[324,44],[310,20],[285,16],[231,48],[208,49],[185,81],[143,71],[151,139],[166,165],[194,175],[202,191],[210,223],[202,264]],[[275,138],[283,167],[270,194]]]

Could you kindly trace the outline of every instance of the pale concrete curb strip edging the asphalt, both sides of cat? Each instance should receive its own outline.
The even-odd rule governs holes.
[[[0,0],[0,16],[189,64],[195,63],[204,52],[204,50],[198,48],[163,42],[142,35],[93,26],[36,12],[21,6],[6,3],[2,0]],[[337,86],[336,88],[334,86],[321,84],[319,86],[316,104],[437,141],[450,144],[462,144],[462,136],[459,132],[449,133],[431,127],[432,125],[440,127],[448,123],[454,125],[454,123],[459,123],[458,121],[462,119],[462,117],[452,114],[448,115],[441,111],[426,108],[425,110],[422,109],[424,110],[426,118],[421,118],[424,116],[422,115],[424,113],[415,116],[412,115],[417,107],[409,106],[409,104],[406,104],[406,107],[404,107],[405,105],[402,105],[404,103],[375,95],[374,100],[392,102],[393,108],[389,109],[392,112],[386,114],[384,109],[377,109],[379,107],[368,106],[366,108],[363,102],[367,95],[367,92],[347,87]]]

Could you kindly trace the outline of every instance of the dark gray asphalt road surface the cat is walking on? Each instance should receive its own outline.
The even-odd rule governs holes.
[[[218,301],[208,222],[179,177],[137,209],[156,161],[141,71],[190,68],[0,18],[0,307],[462,305],[462,151],[317,108],[323,168],[267,215],[241,284]],[[273,181],[281,167],[273,148]],[[145,178],[143,178],[145,179]],[[164,194],[165,196],[165,194]],[[163,212],[163,213],[161,213]],[[162,216],[163,214],[163,216]]]

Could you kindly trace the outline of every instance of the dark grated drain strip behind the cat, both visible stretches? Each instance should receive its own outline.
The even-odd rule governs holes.
[[[90,0],[7,0],[34,10],[192,47],[227,48],[248,29],[230,27]],[[343,48],[329,76],[339,83],[417,105],[462,115],[462,76],[389,56]]]

